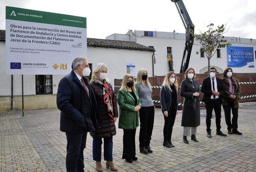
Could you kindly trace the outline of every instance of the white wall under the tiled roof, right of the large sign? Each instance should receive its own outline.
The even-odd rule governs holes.
[[[108,66],[108,79],[114,87],[114,79],[123,79],[126,74],[126,62],[135,62],[135,71],[141,68],[148,70],[148,76],[153,76],[152,54],[149,51],[106,49],[99,47],[87,47],[88,63],[92,63],[92,69],[98,63]]]

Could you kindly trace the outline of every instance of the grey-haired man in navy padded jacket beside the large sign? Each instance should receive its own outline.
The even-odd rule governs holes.
[[[57,107],[60,112],[60,131],[67,136],[67,171],[84,172],[84,148],[87,132],[98,127],[96,101],[88,84],[90,68],[85,57],[72,62],[72,71],[59,82]]]

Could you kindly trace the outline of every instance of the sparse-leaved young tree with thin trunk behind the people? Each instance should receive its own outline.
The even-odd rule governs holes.
[[[205,52],[205,56],[208,59],[208,76],[210,74],[210,59],[216,53],[217,49],[225,48],[226,46],[230,46],[231,43],[227,42],[224,39],[223,34],[225,34],[229,29],[226,29],[226,25],[217,26],[217,28],[213,28],[214,24],[211,23],[207,26],[207,31],[199,31],[199,34],[195,34],[194,38],[198,43],[195,43],[200,47],[200,50]],[[193,34],[193,33],[191,33]],[[197,51],[196,54],[199,52]]]

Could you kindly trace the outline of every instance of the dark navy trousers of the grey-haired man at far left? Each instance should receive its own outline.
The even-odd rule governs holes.
[[[67,136],[67,172],[84,172],[84,149],[87,133],[66,133]]]

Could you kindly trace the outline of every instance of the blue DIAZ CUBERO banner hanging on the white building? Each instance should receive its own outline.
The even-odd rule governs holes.
[[[227,47],[227,67],[254,67],[253,47]]]

